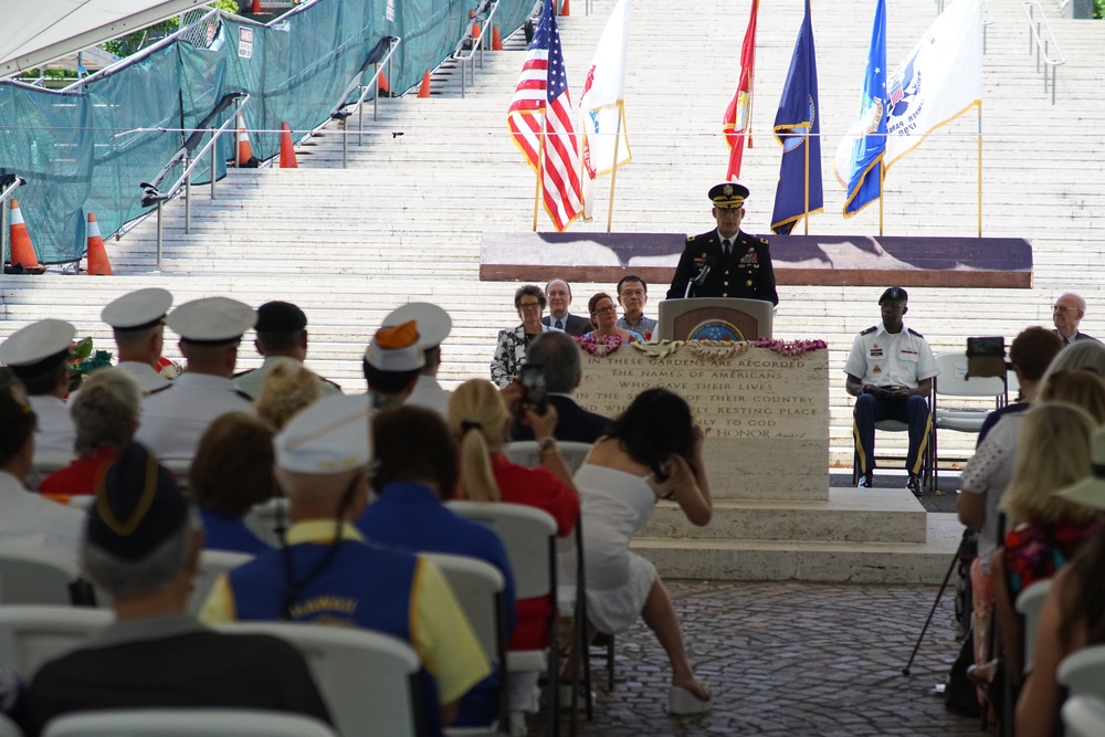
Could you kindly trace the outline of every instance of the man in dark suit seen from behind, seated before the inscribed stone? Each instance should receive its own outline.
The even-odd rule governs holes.
[[[548,402],[556,408],[557,440],[573,443],[593,443],[606,434],[610,420],[585,410],[571,398],[571,392],[583,378],[579,361],[579,346],[562,333],[543,333],[526,349],[526,364],[545,367]],[[522,422],[522,415],[514,415],[512,428],[514,440],[534,440],[534,431]]]

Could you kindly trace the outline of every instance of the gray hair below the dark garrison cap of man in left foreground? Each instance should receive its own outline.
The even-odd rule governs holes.
[[[202,528],[199,515],[189,509],[188,523],[140,560],[126,560],[105,552],[85,534],[81,543],[81,560],[88,577],[116,601],[160,593],[185,570],[191,552],[192,535]]]

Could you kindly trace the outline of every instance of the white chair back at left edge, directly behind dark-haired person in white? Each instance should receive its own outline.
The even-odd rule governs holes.
[[[43,550],[3,544],[0,604],[95,607],[96,594],[76,564]]]

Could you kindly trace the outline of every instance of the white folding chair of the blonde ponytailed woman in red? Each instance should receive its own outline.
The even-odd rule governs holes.
[[[548,623],[549,649],[509,651],[506,653],[506,667],[517,672],[548,670],[548,734],[559,735],[556,520],[544,509],[503,502],[450,502],[449,508],[462,517],[491,527],[503,540],[514,572],[515,597],[549,597],[552,607]],[[545,540],[544,545],[541,540]]]

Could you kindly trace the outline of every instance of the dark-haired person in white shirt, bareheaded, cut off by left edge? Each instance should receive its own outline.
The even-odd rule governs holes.
[[[34,422],[23,386],[0,368],[0,539],[75,564],[84,515],[23,487],[34,456]]]

